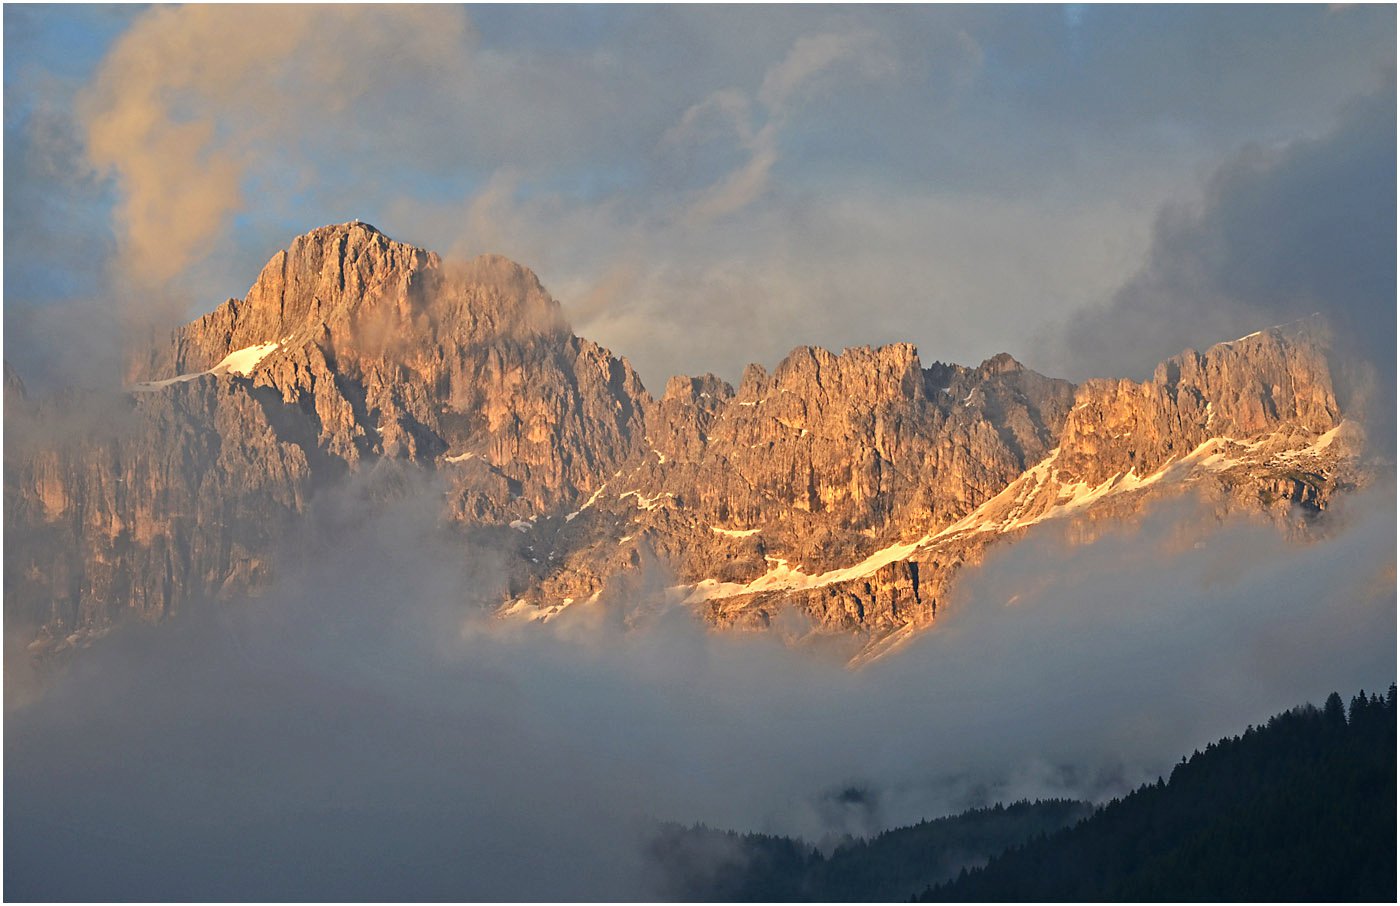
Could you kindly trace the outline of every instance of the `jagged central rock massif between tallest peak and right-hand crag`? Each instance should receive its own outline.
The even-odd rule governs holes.
[[[557,538],[532,529],[561,553],[522,598],[589,598],[645,550],[718,625],[767,626],[788,605],[826,629],[927,623],[938,585],[917,564],[811,588],[792,571],[843,570],[972,511],[1044,458],[1072,393],[1009,356],[924,368],[909,344],[802,347],[771,375],[750,365],[736,392],[675,378],[648,409],[647,454]],[[750,588],[764,576],[771,591]]]

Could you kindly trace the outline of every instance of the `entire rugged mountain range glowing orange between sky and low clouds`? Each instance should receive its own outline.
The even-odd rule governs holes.
[[[738,389],[676,377],[652,399],[529,270],[323,227],[134,354],[120,395],[29,400],[7,367],[6,611],[53,648],[255,592],[318,493],[395,465],[498,541],[512,618],[655,562],[655,594],[718,626],[794,612],[878,653],[1039,521],[1186,487],[1320,511],[1358,480],[1326,351],[1306,322],[1075,388],[1007,354],[799,347]]]

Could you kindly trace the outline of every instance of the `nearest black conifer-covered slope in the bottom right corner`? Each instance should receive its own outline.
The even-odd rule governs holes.
[[[1396,899],[1396,688],[1285,711],[925,900]]]

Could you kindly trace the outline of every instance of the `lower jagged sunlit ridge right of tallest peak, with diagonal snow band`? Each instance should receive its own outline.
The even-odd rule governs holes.
[[[909,346],[798,350],[773,378],[750,370],[734,396],[703,398],[707,430],[658,444],[577,522],[532,527],[563,553],[507,612],[547,619],[652,550],[676,573],[673,599],[720,626],[797,609],[862,633],[869,657],[931,623],[990,543],[1046,520],[1193,492],[1298,529],[1364,480],[1326,349],[1323,325],[1303,322],[1183,353],[1142,384],[1079,388],[1009,356],[923,370]],[[874,385],[848,389],[850,371]]]

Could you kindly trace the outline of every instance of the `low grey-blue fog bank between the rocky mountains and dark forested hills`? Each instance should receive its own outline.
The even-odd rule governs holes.
[[[654,609],[652,567],[547,626],[434,489],[322,499],[259,601],[132,629],[6,714],[10,898],[650,899],[652,819],[872,832],[1106,797],[1394,675],[1394,493],[1296,543],[1190,504],[1042,531],[861,672]],[[843,790],[867,808],[834,808]]]

